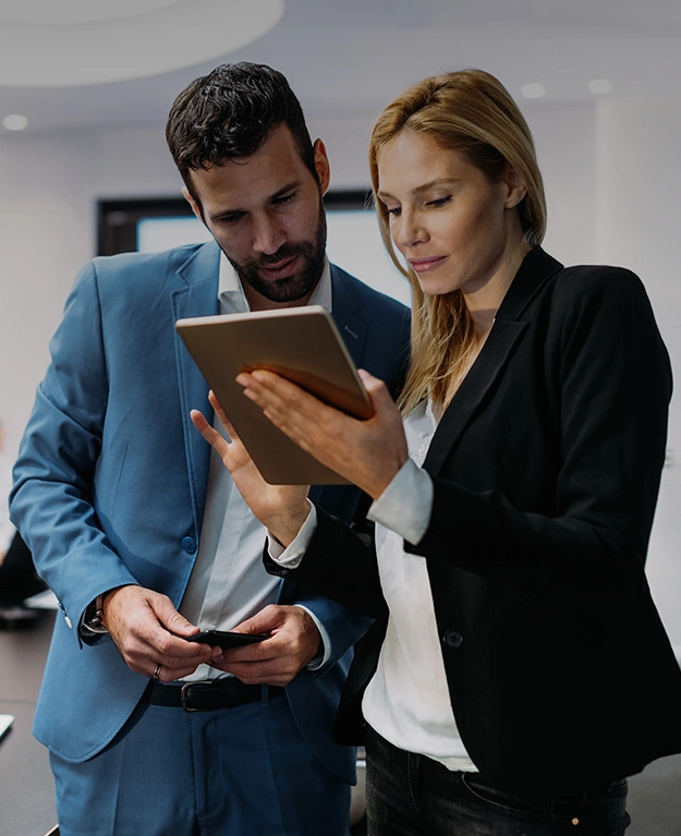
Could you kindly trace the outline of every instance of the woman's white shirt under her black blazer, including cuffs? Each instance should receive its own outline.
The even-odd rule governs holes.
[[[404,552],[426,532],[433,510],[433,481],[422,470],[437,420],[425,401],[405,419],[410,458],[372,505],[376,554],[389,618],[376,673],[362,712],[386,740],[425,754],[450,770],[475,771],[459,735],[449,699],[426,561]],[[269,553],[282,566],[303,559],[316,526],[314,506],[297,537],[282,549],[270,537]]]

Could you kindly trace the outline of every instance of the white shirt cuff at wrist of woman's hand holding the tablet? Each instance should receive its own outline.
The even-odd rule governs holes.
[[[415,546],[430,522],[433,494],[430,475],[408,459],[366,516]]]

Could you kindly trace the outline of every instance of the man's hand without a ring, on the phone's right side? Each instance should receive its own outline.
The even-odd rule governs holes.
[[[247,684],[287,686],[321,653],[319,631],[301,607],[270,604],[234,630],[271,633],[257,644],[222,651],[222,658],[210,663]]]

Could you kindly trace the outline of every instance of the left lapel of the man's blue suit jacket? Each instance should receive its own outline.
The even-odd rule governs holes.
[[[181,289],[171,293],[173,322],[219,313],[219,262],[220,250],[217,244],[210,242],[179,267],[177,277]],[[177,332],[175,362],[192,507],[196,531],[200,532],[206,506],[210,446],[196,432],[190,420],[190,410],[198,409],[210,420],[212,407],[208,401],[208,385]]]

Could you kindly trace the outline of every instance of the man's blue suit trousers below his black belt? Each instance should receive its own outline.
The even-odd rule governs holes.
[[[61,836],[348,836],[350,787],[285,695],[264,694],[207,712],[141,704],[95,758],[51,753]]]

